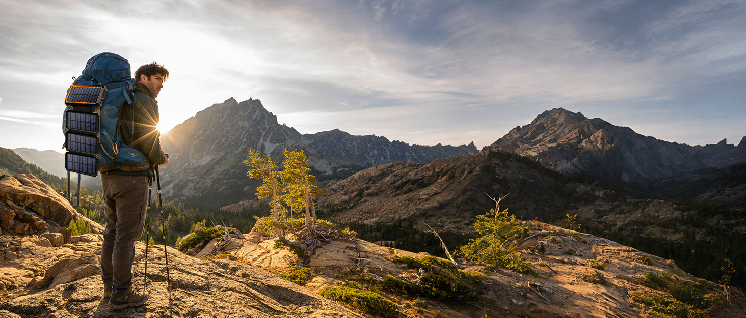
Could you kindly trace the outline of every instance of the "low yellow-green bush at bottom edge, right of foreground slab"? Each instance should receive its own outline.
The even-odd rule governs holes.
[[[353,283],[353,282],[351,282]],[[351,308],[380,317],[398,317],[396,304],[378,293],[360,289],[360,284],[325,287],[319,294],[336,302],[344,302]]]

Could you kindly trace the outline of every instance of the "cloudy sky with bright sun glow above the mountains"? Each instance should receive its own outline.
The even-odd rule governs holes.
[[[746,136],[746,1],[0,0],[0,147],[63,152],[100,52],[169,69],[169,130],[228,98],[300,133],[492,144],[562,107],[645,136]]]

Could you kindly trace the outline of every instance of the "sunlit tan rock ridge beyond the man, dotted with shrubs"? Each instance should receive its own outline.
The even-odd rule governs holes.
[[[706,286],[708,297],[723,299],[724,287],[696,279],[683,273],[676,264],[663,258],[624,247],[614,241],[593,235],[575,233],[538,223],[527,239],[521,241],[524,258],[536,268],[535,276],[509,270],[485,271],[487,273],[476,288],[480,299],[470,305],[411,299],[395,293],[386,293],[404,317],[646,317],[652,308],[632,300],[635,295],[659,293],[641,284],[648,273],[671,275],[686,284]],[[313,277],[304,286],[318,291],[349,281],[372,284],[377,279],[394,276],[415,282],[421,275],[416,269],[398,261],[407,256],[422,258],[424,255],[401,249],[380,247],[356,238],[340,238],[316,249],[306,260],[275,262],[280,260],[278,249],[273,249],[274,239],[254,244],[239,240],[240,247],[211,250],[210,255],[228,254],[229,259],[248,261],[283,273],[289,267],[302,264],[313,269]],[[268,244],[265,244],[268,243]],[[204,250],[207,250],[206,247]],[[203,250],[203,251],[204,251]],[[242,258],[245,251],[264,258]],[[286,249],[280,249],[286,250]],[[541,250],[536,253],[533,251]],[[573,250],[568,255],[568,250]],[[274,256],[273,256],[274,255]],[[442,261],[446,261],[442,259]],[[482,271],[479,264],[462,266],[466,271]],[[242,276],[248,273],[241,272]],[[379,290],[381,293],[384,290]],[[739,317],[746,309],[744,294],[736,290],[731,294],[730,305],[722,303],[709,308],[712,317]],[[472,306],[473,305],[473,306]]]

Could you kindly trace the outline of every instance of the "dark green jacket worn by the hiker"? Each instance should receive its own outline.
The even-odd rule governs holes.
[[[119,133],[122,134],[122,141],[142,151],[151,165],[161,165],[166,161],[166,157],[160,150],[160,132],[156,129],[158,119],[158,102],[155,101],[153,93],[142,83],[135,83],[132,106],[126,105],[122,109],[122,115],[119,116],[122,123]],[[109,172],[120,175],[153,175],[150,169],[125,170],[131,169],[117,169]]]

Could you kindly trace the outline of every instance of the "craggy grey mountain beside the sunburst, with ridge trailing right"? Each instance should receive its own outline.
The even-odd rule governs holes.
[[[315,173],[347,177],[363,168],[408,160],[430,162],[477,152],[474,143],[454,146],[410,145],[380,136],[353,136],[341,130],[301,134],[279,124],[256,99],[233,98],[198,112],[160,138],[169,153],[161,167],[163,194],[172,200],[236,203],[254,197],[257,180],[245,177],[246,150],[253,148],[283,159],[283,149],[304,150]],[[324,178],[325,176],[320,176]]]

